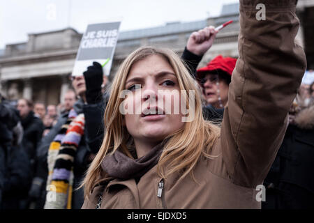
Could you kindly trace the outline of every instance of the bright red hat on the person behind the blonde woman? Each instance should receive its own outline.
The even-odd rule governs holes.
[[[237,63],[237,59],[234,59],[231,57],[223,57],[221,55],[218,55],[214,59],[209,61],[209,63],[207,63],[207,66],[205,66],[204,68],[198,69],[196,71],[196,75],[197,77],[200,77],[200,75],[204,74],[204,72],[211,72],[214,70],[223,70],[231,76],[236,63]]]

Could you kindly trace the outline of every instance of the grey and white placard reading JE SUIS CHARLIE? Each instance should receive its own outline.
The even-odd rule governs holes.
[[[72,76],[81,76],[93,61],[103,66],[105,75],[110,74],[121,22],[89,24],[77,51]]]

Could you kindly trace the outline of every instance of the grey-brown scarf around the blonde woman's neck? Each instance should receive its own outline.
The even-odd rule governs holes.
[[[163,145],[158,144],[154,148],[138,159],[132,159],[120,151],[115,151],[113,155],[107,155],[101,162],[101,167],[109,176],[128,180],[130,178],[141,178],[152,167],[154,167],[163,152]]]

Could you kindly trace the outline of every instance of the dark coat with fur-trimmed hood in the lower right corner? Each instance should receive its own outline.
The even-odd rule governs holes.
[[[264,209],[314,208],[314,105],[301,111],[285,132],[264,180]]]

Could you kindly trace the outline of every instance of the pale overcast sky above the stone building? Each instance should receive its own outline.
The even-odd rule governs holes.
[[[27,33],[122,20],[120,31],[192,22],[218,16],[225,3],[237,0],[0,0],[0,49],[27,41]]]

